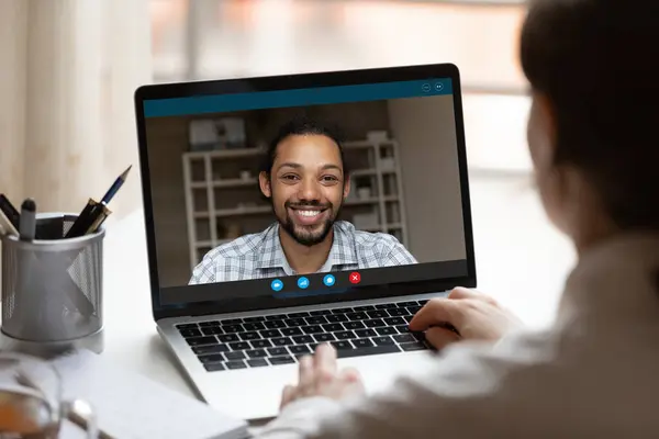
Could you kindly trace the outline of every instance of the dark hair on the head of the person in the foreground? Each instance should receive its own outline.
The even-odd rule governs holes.
[[[621,228],[659,229],[659,0],[532,0],[522,67],[549,102],[556,166]]]

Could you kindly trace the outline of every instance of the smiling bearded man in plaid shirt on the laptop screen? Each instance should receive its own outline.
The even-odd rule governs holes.
[[[259,173],[277,222],[209,251],[190,284],[416,263],[396,238],[337,221],[350,191],[339,136],[309,119],[283,125]]]

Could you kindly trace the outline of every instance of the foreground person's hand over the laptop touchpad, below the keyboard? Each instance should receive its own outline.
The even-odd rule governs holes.
[[[281,408],[293,401],[326,396],[342,399],[364,394],[359,372],[355,369],[337,370],[336,350],[330,344],[319,345],[315,354],[300,358],[298,385],[287,385],[281,397]]]

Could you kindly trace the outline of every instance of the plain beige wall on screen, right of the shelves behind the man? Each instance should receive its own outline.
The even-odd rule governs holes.
[[[392,100],[389,117],[410,248],[420,262],[466,258],[453,97]]]

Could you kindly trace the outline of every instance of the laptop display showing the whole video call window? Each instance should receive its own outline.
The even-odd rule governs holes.
[[[144,101],[160,302],[468,273],[451,80]]]

